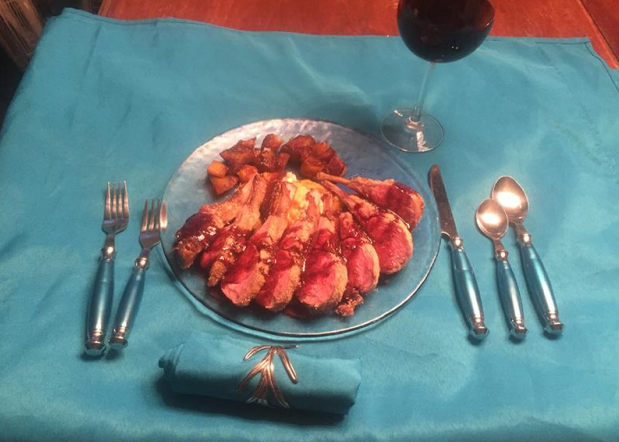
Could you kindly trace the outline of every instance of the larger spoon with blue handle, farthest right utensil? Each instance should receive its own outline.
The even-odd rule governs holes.
[[[533,297],[535,307],[544,324],[544,331],[558,336],[563,332],[563,323],[559,320],[559,311],[550,279],[542,260],[533,247],[531,235],[522,225],[529,212],[527,195],[515,179],[503,176],[492,187],[492,199],[503,207],[509,222],[516,229],[524,276],[529,293]]]

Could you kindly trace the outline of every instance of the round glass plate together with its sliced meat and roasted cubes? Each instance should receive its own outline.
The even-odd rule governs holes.
[[[183,292],[247,331],[320,337],[404,306],[438,253],[434,198],[381,141],[320,120],[232,129],[165,190]]]

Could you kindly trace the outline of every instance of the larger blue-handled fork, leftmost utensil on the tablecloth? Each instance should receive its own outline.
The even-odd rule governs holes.
[[[101,249],[101,260],[86,314],[86,354],[99,356],[105,351],[105,334],[114,298],[114,257],[116,256],[116,234],[127,228],[129,223],[129,194],[127,182],[107,183],[105,209],[101,229],[105,233],[105,244]]]

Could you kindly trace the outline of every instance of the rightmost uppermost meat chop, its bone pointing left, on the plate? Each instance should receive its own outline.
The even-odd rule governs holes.
[[[325,173],[318,174],[318,179],[344,184],[377,206],[392,210],[400,215],[411,230],[417,226],[423,216],[425,209],[423,197],[414,189],[393,179],[384,181],[363,177],[346,179]]]

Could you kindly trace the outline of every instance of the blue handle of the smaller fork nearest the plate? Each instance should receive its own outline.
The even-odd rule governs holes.
[[[123,292],[114,320],[114,333],[110,339],[110,346],[116,350],[121,350],[129,344],[129,333],[135,322],[140,309],[142,295],[144,294],[145,278],[146,268],[136,265],[125,286],[125,291]]]

